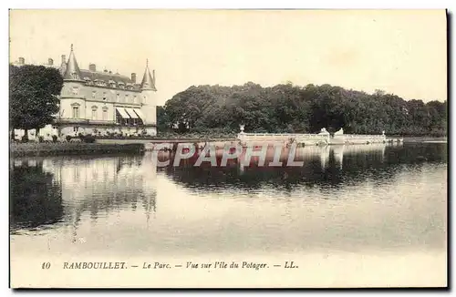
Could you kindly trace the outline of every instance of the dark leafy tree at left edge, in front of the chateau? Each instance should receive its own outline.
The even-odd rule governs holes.
[[[40,128],[51,124],[58,112],[63,77],[57,69],[43,66],[10,65],[9,71],[9,118],[10,127],[25,130]],[[13,135],[14,137],[14,135]]]

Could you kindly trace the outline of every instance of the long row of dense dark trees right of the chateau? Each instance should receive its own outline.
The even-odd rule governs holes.
[[[159,130],[435,135],[447,133],[447,103],[404,100],[330,85],[189,87],[158,109]]]

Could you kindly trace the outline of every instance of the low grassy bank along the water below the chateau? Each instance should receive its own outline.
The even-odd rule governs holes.
[[[11,157],[26,156],[56,156],[56,155],[91,155],[140,153],[144,145],[140,143],[106,144],[106,143],[11,143],[9,152]]]

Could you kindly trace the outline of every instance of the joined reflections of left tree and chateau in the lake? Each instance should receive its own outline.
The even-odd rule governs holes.
[[[95,223],[111,212],[156,211],[157,167],[150,156],[14,159],[11,162],[11,227],[62,222],[77,234],[85,213]]]

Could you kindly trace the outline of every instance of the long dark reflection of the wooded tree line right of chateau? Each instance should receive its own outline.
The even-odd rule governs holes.
[[[182,162],[180,167],[169,166],[161,170],[187,188],[219,192],[227,189],[255,190],[264,186],[285,191],[295,189],[297,185],[337,188],[366,179],[375,180],[375,184],[394,179],[403,169],[402,165],[422,163],[420,156],[428,162],[446,162],[446,145],[441,147],[435,144],[420,144],[416,148],[335,146],[331,148],[329,157],[325,153],[301,153],[298,159],[305,161],[303,167],[257,167],[254,163],[242,167],[237,160],[227,167],[204,166],[204,163],[201,167],[194,167],[195,158]],[[217,156],[218,164],[220,159],[221,156]],[[272,161],[272,156],[268,155],[265,164],[269,161]]]

